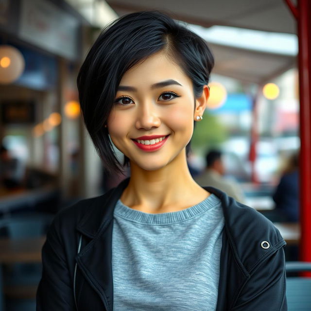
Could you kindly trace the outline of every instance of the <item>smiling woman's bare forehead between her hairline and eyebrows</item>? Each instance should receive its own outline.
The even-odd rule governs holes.
[[[122,76],[120,85],[151,85],[159,81],[173,79],[180,84],[192,85],[183,69],[163,52],[156,52],[127,70]]]

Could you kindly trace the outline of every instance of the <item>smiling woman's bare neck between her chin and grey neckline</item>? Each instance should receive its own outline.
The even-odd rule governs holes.
[[[155,171],[143,170],[131,162],[131,178],[121,201],[143,212],[163,213],[193,206],[207,196],[208,192],[192,179],[184,150]]]

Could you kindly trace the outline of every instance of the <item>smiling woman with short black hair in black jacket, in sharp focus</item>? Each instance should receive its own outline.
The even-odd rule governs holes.
[[[55,217],[37,310],[286,310],[279,232],[187,167],[212,67],[205,42],[159,12],[99,36],[78,76],[83,117],[107,170],[120,170],[112,141],[131,177]]]

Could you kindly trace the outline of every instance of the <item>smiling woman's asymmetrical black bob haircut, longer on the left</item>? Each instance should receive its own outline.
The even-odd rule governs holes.
[[[193,83],[194,97],[200,97],[214,66],[213,55],[201,37],[158,11],[128,14],[104,28],[79,71],[77,86],[83,119],[108,173],[122,171],[104,127],[121,78],[159,51],[180,66]],[[187,151],[189,148],[188,144]]]

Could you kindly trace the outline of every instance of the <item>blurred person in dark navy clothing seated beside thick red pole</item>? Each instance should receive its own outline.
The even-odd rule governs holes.
[[[294,154],[289,159],[289,164],[273,195],[276,211],[282,215],[286,222],[297,222],[299,220],[298,167],[299,155]]]

